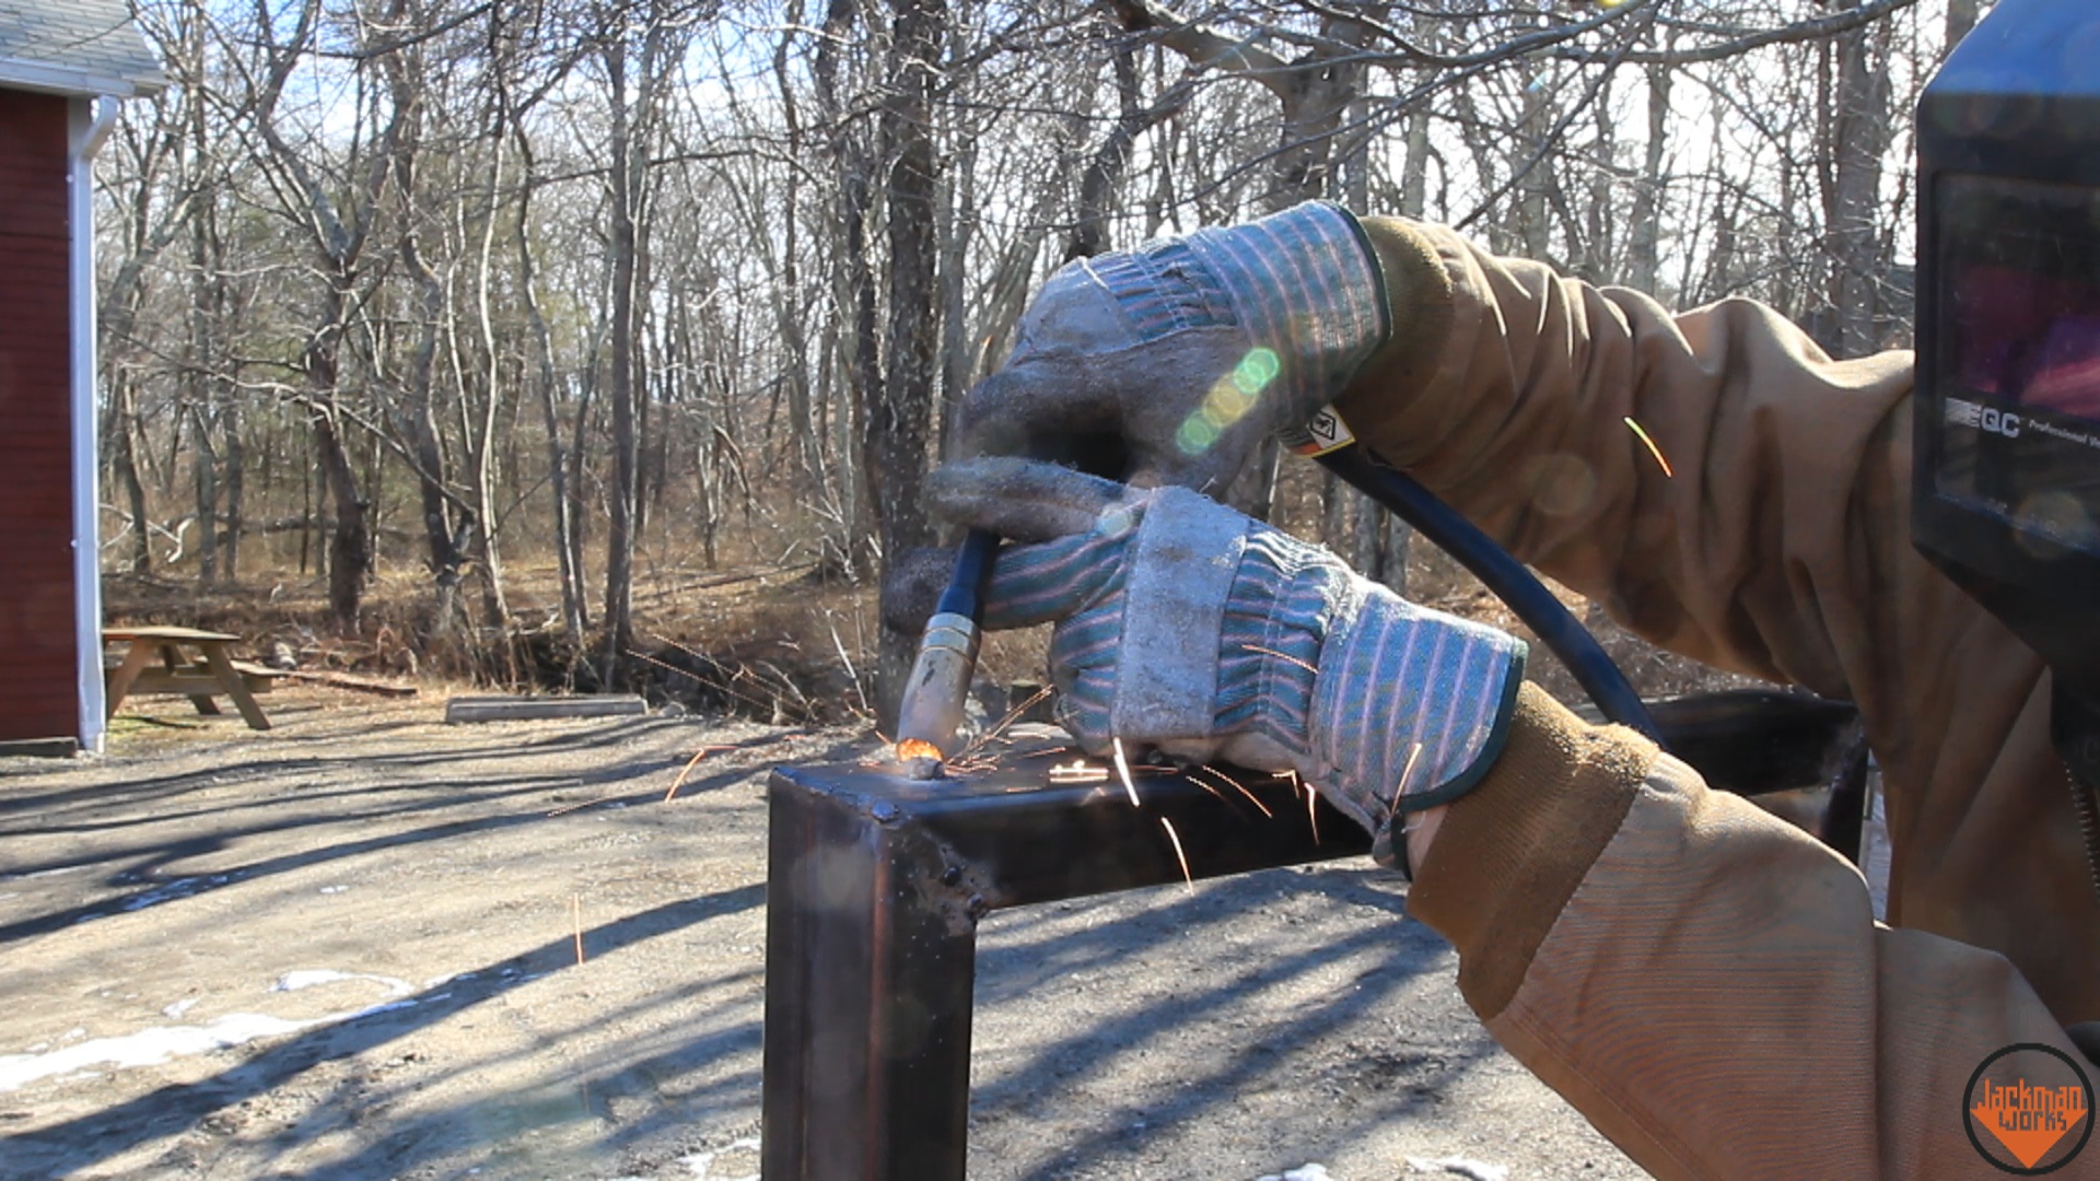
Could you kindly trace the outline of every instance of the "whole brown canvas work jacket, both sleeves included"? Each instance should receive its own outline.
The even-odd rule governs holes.
[[[1894,845],[1890,929],[1806,834],[1527,687],[1411,897],[1468,1002],[1665,1177],[1993,1175],[1968,1076],[2100,1017],[2100,902],[2048,672],[1911,546],[1909,355],[1365,227],[1396,330],[1357,435],[1646,639],[1856,702]]]

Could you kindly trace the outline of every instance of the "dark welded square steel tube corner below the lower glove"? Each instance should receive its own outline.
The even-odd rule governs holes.
[[[762,1175],[962,1181],[976,923],[991,910],[1369,849],[1287,780],[1233,771],[1050,786],[1048,761],[914,782],[874,767],[773,773]],[[1317,832],[1315,832],[1317,828]]]

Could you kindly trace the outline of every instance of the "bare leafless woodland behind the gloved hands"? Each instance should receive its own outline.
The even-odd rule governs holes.
[[[937,540],[949,410],[1065,261],[1334,198],[1903,345],[1909,111],[1987,8],[141,0],[172,86],[97,162],[109,599],[867,710],[911,643],[882,559]],[[1407,576],[1308,464],[1233,496]]]

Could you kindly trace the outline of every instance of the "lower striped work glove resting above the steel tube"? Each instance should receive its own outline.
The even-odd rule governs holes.
[[[1388,864],[1394,813],[1449,803],[1502,752],[1522,641],[1415,607],[1319,546],[1182,488],[1031,460],[947,464],[930,494],[951,521],[1035,542],[1000,555],[985,624],[1056,624],[1060,721],[1092,752],[1119,738],[1296,769]]]

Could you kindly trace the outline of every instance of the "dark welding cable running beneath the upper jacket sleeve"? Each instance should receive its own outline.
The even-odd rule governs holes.
[[[1546,584],[1525,569],[1525,563],[1510,557],[1493,538],[1460,517],[1413,477],[1378,462],[1361,443],[1327,452],[1319,462],[1413,525],[1430,544],[1449,553],[1485,582],[1560,658],[1560,664],[1567,664],[1575,683],[1590,693],[1606,719],[1638,729],[1655,742],[1663,740],[1655,719],[1648,717],[1648,706],[1642,704],[1640,693],[1634,691],[1604,645],[1575,620],[1560,599],[1554,599]]]

